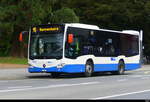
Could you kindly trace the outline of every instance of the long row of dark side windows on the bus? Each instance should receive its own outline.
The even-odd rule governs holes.
[[[129,57],[139,54],[138,36],[71,27],[67,31],[67,34],[70,33],[74,34],[74,42],[69,44],[66,41],[67,58],[77,58],[82,55]]]

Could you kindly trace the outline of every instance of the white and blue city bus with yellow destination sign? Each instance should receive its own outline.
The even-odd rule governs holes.
[[[142,32],[114,31],[70,23],[32,26],[29,33],[30,73],[124,74],[141,67]]]

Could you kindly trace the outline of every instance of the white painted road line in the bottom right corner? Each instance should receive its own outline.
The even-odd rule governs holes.
[[[131,95],[131,94],[139,94],[139,93],[143,93],[143,92],[150,92],[150,89],[149,90],[143,90],[143,91],[137,91],[137,92],[116,94],[116,95],[111,95],[111,96],[97,97],[97,98],[93,98],[93,100],[97,100],[97,99],[109,99],[109,98],[114,98],[114,97],[119,97],[119,96],[126,96],[126,95]]]

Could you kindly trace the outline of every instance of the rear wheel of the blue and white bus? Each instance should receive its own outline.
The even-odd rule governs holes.
[[[125,64],[123,60],[120,60],[118,63],[118,70],[113,71],[112,74],[114,75],[123,75],[125,72]]]

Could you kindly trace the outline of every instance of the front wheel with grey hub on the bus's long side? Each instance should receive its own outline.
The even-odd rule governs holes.
[[[93,63],[91,61],[87,61],[85,65],[85,77],[90,77],[92,76],[93,73]]]

